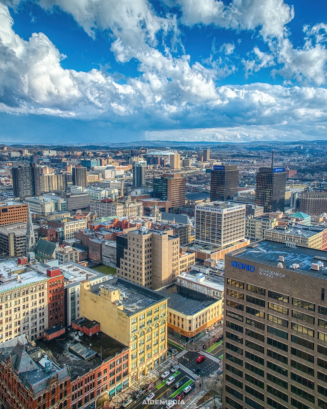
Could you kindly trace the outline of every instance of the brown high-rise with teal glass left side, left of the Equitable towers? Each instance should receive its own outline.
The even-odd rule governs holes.
[[[179,173],[164,173],[161,178],[153,178],[153,196],[168,200],[169,213],[178,213],[185,206],[185,182]]]

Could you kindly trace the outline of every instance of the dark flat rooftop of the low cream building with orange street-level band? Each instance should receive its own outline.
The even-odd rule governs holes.
[[[217,302],[215,298],[176,284],[170,284],[157,292],[169,298],[168,308],[185,315],[195,315]]]

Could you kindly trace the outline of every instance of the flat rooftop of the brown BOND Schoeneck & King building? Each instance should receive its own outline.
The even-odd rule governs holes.
[[[236,258],[255,261],[266,265],[277,267],[279,256],[284,257],[284,270],[292,270],[292,264],[298,264],[300,267],[295,271],[309,276],[316,276],[327,280],[327,267],[319,271],[311,270],[311,263],[322,261],[327,266],[327,252],[323,250],[309,249],[307,247],[286,247],[284,243],[262,240],[253,243],[241,250],[235,250],[226,254]]]

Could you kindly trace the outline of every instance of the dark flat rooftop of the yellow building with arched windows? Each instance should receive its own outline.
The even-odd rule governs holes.
[[[165,301],[168,298],[164,294],[143,287],[143,285],[135,284],[121,278],[110,279],[103,284],[91,285],[90,291],[95,294],[100,294],[100,286],[103,286],[103,288],[107,287],[110,290],[120,290],[121,295],[122,293],[125,294],[122,300],[123,311],[128,316],[150,308],[152,305]]]

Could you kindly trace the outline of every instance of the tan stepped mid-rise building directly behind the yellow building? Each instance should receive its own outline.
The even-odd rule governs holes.
[[[145,227],[128,232],[127,249],[117,268],[118,277],[157,289],[175,282],[178,275],[178,237]]]

